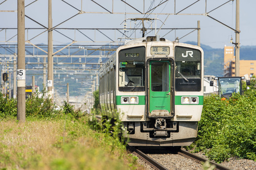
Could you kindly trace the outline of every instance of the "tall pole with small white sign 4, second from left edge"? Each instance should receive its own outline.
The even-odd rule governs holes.
[[[52,0],[48,0],[48,94],[53,99]]]

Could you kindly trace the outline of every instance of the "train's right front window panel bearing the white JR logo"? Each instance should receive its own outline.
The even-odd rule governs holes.
[[[175,90],[201,91],[201,61],[199,50],[175,47]]]

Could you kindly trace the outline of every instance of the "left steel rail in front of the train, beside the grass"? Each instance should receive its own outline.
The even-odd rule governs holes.
[[[149,157],[146,154],[144,154],[143,152],[141,152],[140,150],[130,147],[130,146],[128,146],[127,148],[132,150],[133,154],[135,154],[136,156],[138,156],[139,158],[144,160],[146,163],[150,164],[154,169],[160,169],[160,170],[168,169],[168,168],[164,167],[162,164],[160,164],[157,161],[155,161],[154,159],[152,159],[151,157]]]

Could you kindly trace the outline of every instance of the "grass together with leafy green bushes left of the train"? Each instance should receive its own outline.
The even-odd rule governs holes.
[[[119,140],[125,131],[120,122],[106,121],[109,128],[102,130],[95,116],[66,102],[56,111],[37,93],[27,99],[26,122],[19,123],[16,100],[1,94],[0,102],[0,169],[140,168]]]

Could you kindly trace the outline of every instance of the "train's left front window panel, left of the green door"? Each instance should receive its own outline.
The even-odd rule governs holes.
[[[118,90],[145,91],[145,47],[120,50],[118,59]]]

